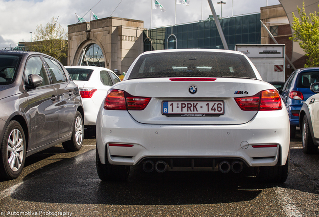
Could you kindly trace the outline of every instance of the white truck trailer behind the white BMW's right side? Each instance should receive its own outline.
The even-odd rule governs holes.
[[[256,66],[264,81],[285,81],[285,45],[236,45]]]

